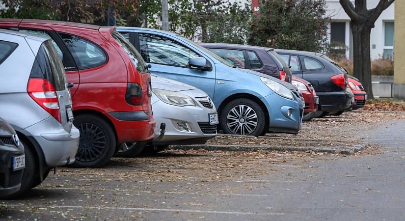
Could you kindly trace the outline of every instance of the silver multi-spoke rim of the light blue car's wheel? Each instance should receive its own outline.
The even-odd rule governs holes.
[[[226,123],[229,130],[237,135],[249,135],[257,126],[256,112],[246,105],[238,105],[228,112]]]

